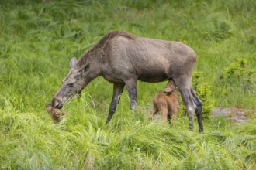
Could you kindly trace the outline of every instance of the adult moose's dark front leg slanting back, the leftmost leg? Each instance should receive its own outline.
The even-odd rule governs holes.
[[[124,83],[114,83],[113,96],[109,107],[109,116],[106,120],[106,124],[109,123],[109,121],[112,118],[112,115],[115,114],[116,106],[119,103],[119,96],[123,92],[124,85]]]

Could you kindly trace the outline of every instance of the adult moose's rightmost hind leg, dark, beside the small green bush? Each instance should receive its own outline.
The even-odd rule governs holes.
[[[192,99],[196,104],[195,114],[197,117],[197,121],[199,124],[199,132],[203,132],[203,124],[202,124],[202,101],[199,99],[199,97],[196,96],[195,91],[193,88],[190,88],[192,93]]]

